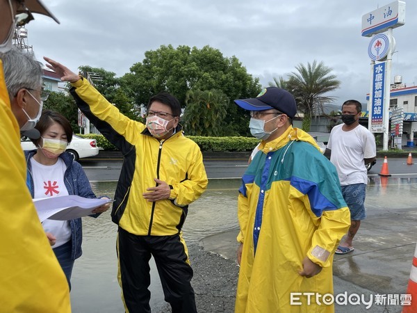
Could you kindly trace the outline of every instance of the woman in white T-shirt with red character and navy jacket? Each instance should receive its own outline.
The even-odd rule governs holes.
[[[90,182],[74,161],[72,154],[65,152],[72,140],[70,122],[58,112],[45,110],[35,126],[40,138],[33,140],[37,150],[26,151],[28,175],[26,184],[32,198],[47,198],[61,195],[79,195],[96,198]],[[93,217],[106,211],[110,204],[95,209]],[[71,274],[74,260],[81,257],[82,229],[81,218],[74,220],[44,220],[45,232],[63,268],[71,289]]]

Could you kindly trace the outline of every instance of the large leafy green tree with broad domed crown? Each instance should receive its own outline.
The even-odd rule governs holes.
[[[259,79],[247,73],[236,56],[224,57],[213,47],[162,45],[146,51],[142,62],[134,64],[121,79],[121,86],[136,104],[147,104],[149,97],[167,91],[186,104],[188,90],[220,90],[229,98],[229,135],[248,134],[247,112],[234,99],[254,97],[261,90]]]

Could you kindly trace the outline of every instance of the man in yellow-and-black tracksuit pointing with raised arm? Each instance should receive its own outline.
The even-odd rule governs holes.
[[[181,106],[169,93],[149,99],[146,125],[124,116],[87,79],[44,58],[79,109],[124,155],[112,220],[119,225],[119,283],[126,312],[151,312],[149,259],[155,259],[172,312],[197,312],[193,269],[181,228],[188,205],[206,189],[202,152],[182,134]]]

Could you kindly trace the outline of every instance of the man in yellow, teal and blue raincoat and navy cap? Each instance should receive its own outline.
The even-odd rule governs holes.
[[[350,225],[336,169],[292,127],[288,91],[269,87],[235,103],[251,111],[250,131],[262,140],[239,189],[235,312],[333,312],[316,294],[333,294],[334,250]],[[311,303],[303,293],[314,294]]]

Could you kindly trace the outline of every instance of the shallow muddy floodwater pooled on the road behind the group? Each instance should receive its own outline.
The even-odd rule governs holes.
[[[92,182],[96,195],[113,198],[116,182]],[[210,179],[207,191],[190,205],[183,236],[188,245],[206,236],[238,229],[236,214],[240,179]],[[379,209],[415,207],[417,178],[370,177],[366,194],[368,214]],[[83,256],[72,273],[71,302],[74,313],[124,312],[117,282],[115,239],[117,226],[110,210],[99,218],[83,218]],[[163,293],[156,266],[151,264],[151,306],[157,310]]]

